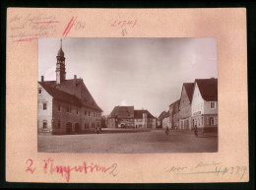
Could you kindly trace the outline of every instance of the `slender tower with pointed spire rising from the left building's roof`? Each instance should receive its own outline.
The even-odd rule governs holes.
[[[60,85],[62,82],[66,80],[65,57],[64,52],[62,50],[62,39],[60,39],[60,49],[58,51],[56,58],[56,84]]]

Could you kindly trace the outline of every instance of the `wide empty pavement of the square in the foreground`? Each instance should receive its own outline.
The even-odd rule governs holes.
[[[122,129],[120,129],[122,130]],[[218,152],[218,136],[164,130],[102,131],[100,134],[38,135],[38,152],[52,153],[204,153]]]

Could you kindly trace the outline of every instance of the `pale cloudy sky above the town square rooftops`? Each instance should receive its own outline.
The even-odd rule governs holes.
[[[56,80],[60,38],[39,38],[38,81]],[[82,78],[103,115],[133,105],[159,116],[183,83],[218,77],[216,38],[63,38],[66,79]]]

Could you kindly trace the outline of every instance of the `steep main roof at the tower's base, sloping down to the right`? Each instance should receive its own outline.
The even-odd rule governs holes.
[[[70,95],[76,95],[80,100],[80,103],[84,106],[102,111],[100,107],[96,104],[93,95],[90,94],[83,79],[77,79],[76,86],[74,85],[74,79],[68,79],[61,82],[60,85],[56,85],[56,81],[44,81],[43,84],[54,89],[58,89]]]

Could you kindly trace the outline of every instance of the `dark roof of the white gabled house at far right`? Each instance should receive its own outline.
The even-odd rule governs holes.
[[[196,79],[200,94],[206,101],[218,101],[218,79]]]

